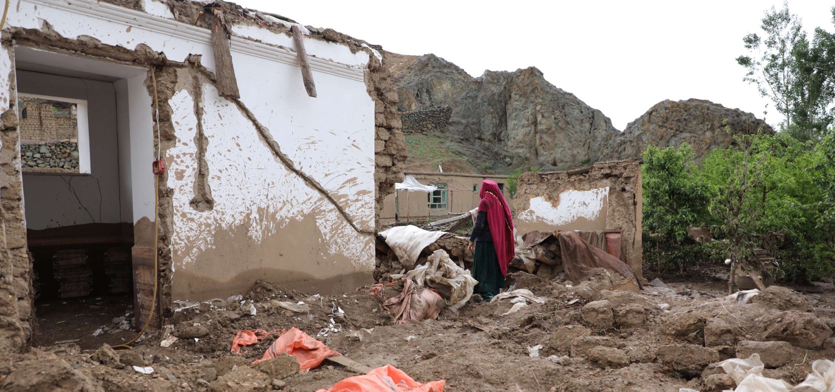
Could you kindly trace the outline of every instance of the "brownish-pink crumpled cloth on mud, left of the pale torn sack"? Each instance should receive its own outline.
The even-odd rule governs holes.
[[[412,279],[403,279],[403,290],[397,297],[387,299],[382,307],[394,314],[395,324],[414,323],[425,319],[438,319],[444,302],[432,289],[418,286]]]

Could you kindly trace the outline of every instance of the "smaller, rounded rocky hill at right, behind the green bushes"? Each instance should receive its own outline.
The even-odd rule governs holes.
[[[703,99],[667,99],[635,118],[617,137],[608,139],[601,151],[611,158],[635,158],[648,145],[665,148],[687,142],[696,153],[696,162],[701,163],[713,148],[731,146],[734,135],[757,133],[759,128],[763,133],[774,133],[767,123],[739,109]]]

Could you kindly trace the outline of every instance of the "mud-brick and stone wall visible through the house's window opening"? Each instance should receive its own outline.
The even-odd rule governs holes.
[[[78,108],[75,103],[20,97],[18,105],[21,143],[78,138]]]

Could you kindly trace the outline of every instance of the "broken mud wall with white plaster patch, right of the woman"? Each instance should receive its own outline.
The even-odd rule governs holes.
[[[532,230],[620,230],[620,259],[642,276],[640,163],[524,173],[514,195],[519,234]]]

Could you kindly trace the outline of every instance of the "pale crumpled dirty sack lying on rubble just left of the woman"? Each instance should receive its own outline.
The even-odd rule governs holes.
[[[437,290],[447,307],[453,311],[467,303],[473,296],[473,288],[478,284],[469,270],[453,263],[443,249],[429,255],[426,264],[418,265],[407,272],[405,277],[412,279],[418,286]]]

